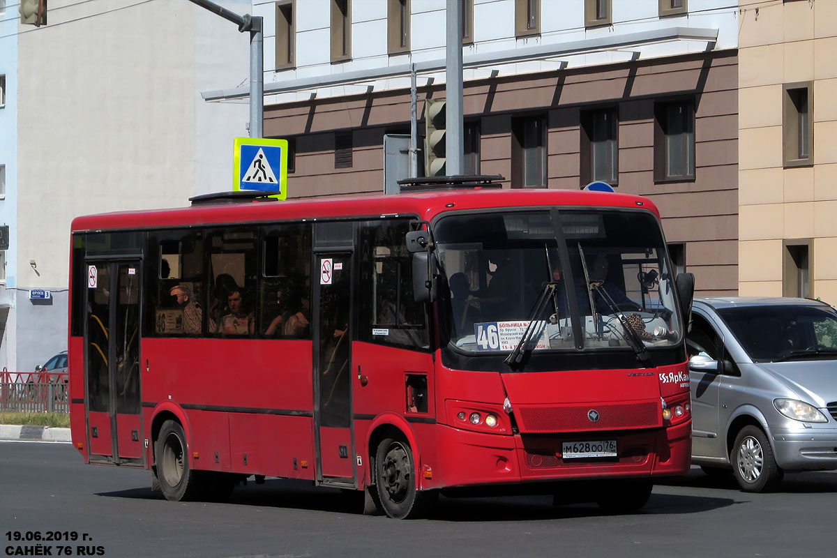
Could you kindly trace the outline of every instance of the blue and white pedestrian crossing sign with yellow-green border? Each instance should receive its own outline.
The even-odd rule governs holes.
[[[235,138],[233,190],[273,192],[284,200],[288,186],[288,141],[253,137]]]

